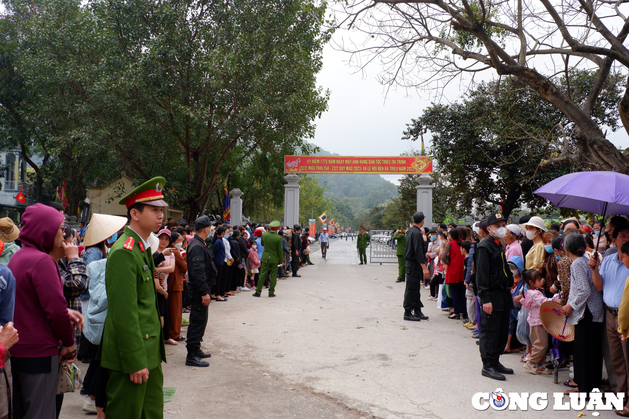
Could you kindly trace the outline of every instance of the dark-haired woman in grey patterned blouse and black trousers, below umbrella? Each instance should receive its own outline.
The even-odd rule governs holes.
[[[574,382],[578,388],[569,393],[586,393],[601,384],[603,349],[598,338],[603,332],[603,294],[592,281],[592,270],[587,265],[586,241],[579,233],[570,233],[564,240],[564,252],[572,260],[570,266],[570,295],[562,309],[567,322],[574,325],[572,357]],[[597,338],[593,338],[597,337]]]

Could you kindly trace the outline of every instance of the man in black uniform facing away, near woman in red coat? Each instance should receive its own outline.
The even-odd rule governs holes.
[[[406,291],[404,291],[404,320],[428,320],[428,316],[421,313],[424,304],[420,298],[420,281],[430,279],[430,272],[426,267],[426,245],[421,226],[424,225],[424,213],[413,214],[413,226],[406,232]]]

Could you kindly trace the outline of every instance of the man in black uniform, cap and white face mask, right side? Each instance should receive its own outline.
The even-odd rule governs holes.
[[[506,379],[503,374],[513,374],[499,362],[509,335],[509,310],[513,308],[509,288],[513,286],[513,274],[504,257],[501,239],[506,234],[506,220],[501,213],[487,217],[489,237],[484,238],[474,252],[476,266],[477,298],[481,306],[481,375],[496,380]]]

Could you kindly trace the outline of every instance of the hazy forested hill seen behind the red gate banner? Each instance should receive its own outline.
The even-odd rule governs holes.
[[[315,154],[338,155],[326,150]],[[377,174],[317,174],[315,176],[319,177],[321,182],[328,182],[321,185],[327,186],[325,196],[350,204],[354,212],[373,208],[398,196],[398,187]]]

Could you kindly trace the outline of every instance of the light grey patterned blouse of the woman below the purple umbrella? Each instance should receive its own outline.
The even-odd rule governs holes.
[[[603,321],[603,293],[594,287],[592,271],[584,256],[572,260],[568,304],[572,307],[572,313],[568,316],[571,325],[576,325],[583,318],[586,304],[592,313],[592,320],[597,323]]]

